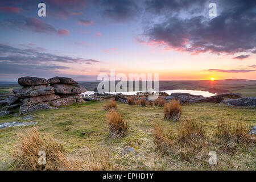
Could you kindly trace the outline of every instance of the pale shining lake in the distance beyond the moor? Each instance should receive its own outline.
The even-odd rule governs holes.
[[[151,92],[155,93],[155,91],[151,91]],[[210,93],[208,91],[201,91],[201,90],[162,90],[160,92],[166,92],[169,95],[172,94],[172,93],[180,92],[180,93],[190,93],[190,94],[193,94],[193,95],[201,95],[201,96],[204,96],[204,97],[216,96],[216,94]],[[90,96],[94,93],[95,92],[93,92],[93,91],[87,91],[87,92],[82,93],[82,94],[87,94],[88,96]],[[133,96],[133,95],[136,95],[138,93],[138,91],[137,92],[105,92],[105,93],[108,93],[108,94],[122,93],[123,95]]]

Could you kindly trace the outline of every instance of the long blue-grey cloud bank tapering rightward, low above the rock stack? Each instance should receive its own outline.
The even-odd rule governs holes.
[[[36,49],[19,49],[0,44],[1,74],[56,75],[59,69],[69,67],[57,63],[99,63],[93,59],[74,59],[69,56],[57,56],[39,52]]]

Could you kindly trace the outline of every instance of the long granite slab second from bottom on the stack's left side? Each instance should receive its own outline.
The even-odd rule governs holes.
[[[60,96],[57,96],[55,94],[51,95],[45,95],[45,96],[38,96],[38,97],[27,97],[22,100],[23,106],[33,105],[40,102],[47,102],[47,101],[53,101],[60,98]]]

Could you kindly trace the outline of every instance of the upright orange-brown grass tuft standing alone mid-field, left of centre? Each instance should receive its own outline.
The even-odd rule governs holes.
[[[106,114],[106,118],[109,123],[110,138],[121,138],[127,134],[128,126],[121,114],[110,110],[109,113]]]

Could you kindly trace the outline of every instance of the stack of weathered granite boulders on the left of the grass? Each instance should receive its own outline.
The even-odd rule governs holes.
[[[31,113],[41,109],[57,109],[59,106],[71,105],[75,102],[84,102],[80,93],[85,88],[72,78],[54,77],[46,80],[37,77],[22,77],[18,79],[22,89],[14,89],[15,97],[21,104],[19,114]]]

